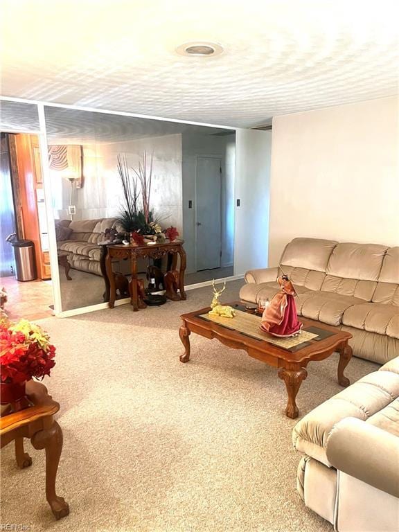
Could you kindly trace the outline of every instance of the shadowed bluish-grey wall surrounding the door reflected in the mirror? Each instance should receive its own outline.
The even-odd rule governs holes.
[[[184,133],[183,154],[183,238],[187,253],[187,272],[196,272],[195,265],[195,180],[197,156],[208,155],[220,157],[222,161],[222,195],[221,195],[221,265],[233,264],[233,202],[234,202],[234,135],[215,136],[212,134]],[[193,202],[191,209],[188,201]]]

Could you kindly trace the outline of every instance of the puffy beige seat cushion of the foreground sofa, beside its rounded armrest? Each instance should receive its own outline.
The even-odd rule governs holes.
[[[330,467],[326,445],[335,423],[347,417],[365,421],[390,405],[398,396],[398,374],[391,371],[369,373],[321,403],[296,423],[292,432],[294,447]]]

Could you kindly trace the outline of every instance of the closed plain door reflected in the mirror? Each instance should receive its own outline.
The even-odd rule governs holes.
[[[197,272],[220,267],[222,251],[220,194],[221,160],[197,157],[196,229]]]

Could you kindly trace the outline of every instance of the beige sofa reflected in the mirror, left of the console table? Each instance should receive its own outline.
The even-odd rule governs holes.
[[[116,227],[116,219],[100,218],[98,220],[72,222],[71,220],[60,220],[58,223],[71,229],[67,240],[57,240],[57,249],[69,252],[68,261],[71,267],[81,272],[101,275],[101,249],[98,242],[104,240],[105,229]]]

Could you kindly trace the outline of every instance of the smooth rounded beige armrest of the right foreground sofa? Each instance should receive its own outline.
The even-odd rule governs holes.
[[[327,442],[328,461],[338,470],[399,497],[399,438],[356,418],[335,425]]]

